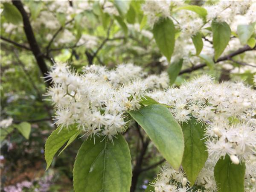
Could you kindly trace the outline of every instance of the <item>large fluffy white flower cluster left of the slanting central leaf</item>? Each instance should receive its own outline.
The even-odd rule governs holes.
[[[114,70],[92,65],[82,74],[56,64],[49,72],[54,85],[46,94],[55,105],[55,123],[61,128],[77,124],[87,136],[111,140],[125,131],[125,111],[140,108],[146,89],[168,86],[167,74],[142,80],[144,75],[133,64],[120,64]]]

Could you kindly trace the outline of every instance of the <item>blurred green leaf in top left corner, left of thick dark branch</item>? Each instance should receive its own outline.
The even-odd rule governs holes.
[[[3,3],[3,16],[8,22],[15,25],[22,22],[22,15],[19,10],[10,3]]]

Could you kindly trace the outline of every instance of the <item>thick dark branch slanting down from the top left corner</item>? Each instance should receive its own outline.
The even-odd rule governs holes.
[[[29,42],[30,49],[32,50],[33,55],[35,56],[35,59],[36,59],[38,66],[41,70],[41,73],[43,74],[45,80],[47,81],[50,79],[50,77],[47,76],[48,68],[44,61],[44,54],[41,52],[41,50],[38,46],[38,43],[35,39],[35,35],[34,35],[32,27],[31,27],[29,17],[28,17],[28,15],[23,7],[23,4],[21,3],[20,0],[12,0],[12,4],[19,10],[19,12],[22,15],[23,29],[26,34],[26,38]],[[49,81],[47,81],[47,85],[50,85]]]

